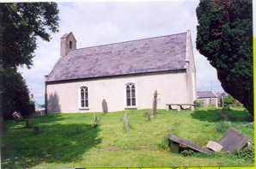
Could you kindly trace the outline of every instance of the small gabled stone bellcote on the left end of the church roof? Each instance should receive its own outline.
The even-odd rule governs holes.
[[[76,50],[76,38],[72,32],[65,33],[60,38],[60,56],[67,56],[71,50]]]

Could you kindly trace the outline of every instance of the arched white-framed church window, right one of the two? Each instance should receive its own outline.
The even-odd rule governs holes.
[[[134,83],[128,83],[125,87],[125,93],[126,93],[126,106],[136,106],[136,87]]]

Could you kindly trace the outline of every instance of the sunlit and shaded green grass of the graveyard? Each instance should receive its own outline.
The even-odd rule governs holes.
[[[205,146],[217,142],[233,127],[254,141],[254,125],[242,110],[226,111],[230,123],[220,121],[218,110],[166,112],[158,110],[149,120],[145,112],[53,113],[30,118],[29,124],[40,127],[40,134],[26,129],[26,122],[5,122],[1,138],[3,168],[68,167],[155,167],[155,166],[253,166],[253,160],[237,154],[174,154],[167,148],[167,133]],[[131,130],[126,131],[124,114]]]

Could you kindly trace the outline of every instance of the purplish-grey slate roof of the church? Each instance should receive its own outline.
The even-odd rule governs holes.
[[[186,34],[179,33],[70,51],[46,81],[186,69]]]

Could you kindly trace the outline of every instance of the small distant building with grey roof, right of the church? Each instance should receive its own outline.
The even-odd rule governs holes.
[[[198,101],[202,101],[203,106],[218,107],[218,96],[213,91],[198,91]]]

